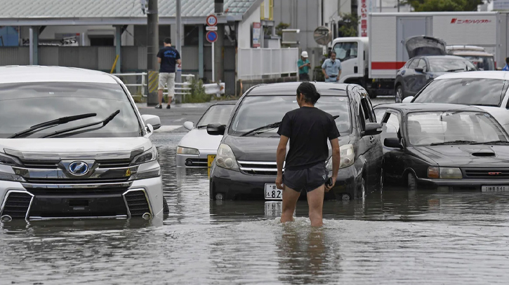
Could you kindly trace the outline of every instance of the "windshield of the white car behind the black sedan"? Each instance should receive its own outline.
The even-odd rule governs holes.
[[[440,79],[426,86],[414,102],[500,106],[507,88],[508,84],[500,79]]]

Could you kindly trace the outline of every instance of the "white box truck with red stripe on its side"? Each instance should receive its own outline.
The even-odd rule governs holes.
[[[509,17],[501,12],[370,13],[368,37],[334,39],[340,82],[364,86],[372,97],[394,95],[394,78],[409,55],[411,36],[432,36],[451,46],[480,46],[503,67],[509,56]]]

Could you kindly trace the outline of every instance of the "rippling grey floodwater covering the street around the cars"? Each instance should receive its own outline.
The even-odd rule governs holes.
[[[0,224],[0,284],[508,283],[508,194],[385,187],[282,225],[277,202],[211,202],[206,169],[175,167],[182,135],[154,134],[163,221]]]

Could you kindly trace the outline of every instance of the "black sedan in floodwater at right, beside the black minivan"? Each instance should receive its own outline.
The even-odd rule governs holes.
[[[486,111],[454,104],[383,104],[385,181],[509,191],[509,137]]]

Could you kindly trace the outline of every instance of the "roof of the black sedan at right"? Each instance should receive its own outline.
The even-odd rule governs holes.
[[[483,109],[475,106],[461,104],[439,104],[439,103],[396,103],[396,104],[379,104],[374,109],[395,109],[403,113],[415,111],[472,111],[486,113]]]

